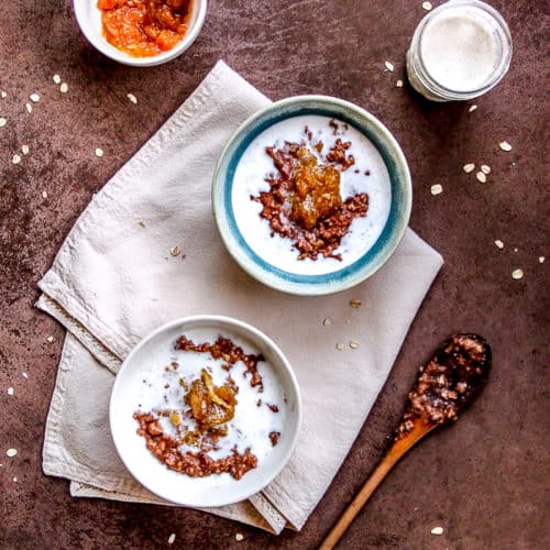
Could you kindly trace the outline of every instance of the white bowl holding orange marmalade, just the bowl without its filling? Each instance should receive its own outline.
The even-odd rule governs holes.
[[[205,22],[208,2],[194,0],[191,22],[185,36],[172,50],[152,57],[133,57],[109,44],[103,36],[101,10],[97,3],[97,0],[73,0],[76,20],[88,42],[116,62],[134,67],[152,67],[174,59],[195,42]]]

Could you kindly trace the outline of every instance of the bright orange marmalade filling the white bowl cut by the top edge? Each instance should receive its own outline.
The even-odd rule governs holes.
[[[98,0],[103,34],[134,57],[172,50],[186,34],[193,0]]]

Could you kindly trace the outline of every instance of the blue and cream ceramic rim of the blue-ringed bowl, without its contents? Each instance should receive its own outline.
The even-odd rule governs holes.
[[[387,219],[374,244],[352,264],[324,274],[293,273],[276,267],[266,261],[265,256],[260,257],[240,231],[233,208],[234,175],[249,145],[273,124],[301,116],[333,118],[365,135],[384,162],[392,195]],[[252,276],[267,286],[293,294],[331,294],[350,288],[371,276],[397,248],[410,217],[410,174],[399,145],[375,117],[352,103],[336,98],[302,96],[273,103],[251,117],[234,133],[222,152],[215,172],[212,207],[226,246]]]

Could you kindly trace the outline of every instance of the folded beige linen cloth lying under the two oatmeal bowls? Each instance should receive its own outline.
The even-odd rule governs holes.
[[[290,462],[249,502],[208,510],[272,532],[304,526],[387,378],[442,265],[411,230],[377,274],[323,297],[264,287],[233,262],[217,234],[210,205],[215,164],[237,127],[267,103],[219,62],[94,197],[38,284],[44,294],[37,307],[68,330],[43,469],[72,480],[74,496],[167,504],[119,460],[108,402],[113,374],[132,346],[176,317],[240,318],[270,334],[295,369],[304,422]],[[174,246],[182,254],[173,255]],[[351,299],[362,306],[352,308]],[[349,345],[352,340],[359,348]]]

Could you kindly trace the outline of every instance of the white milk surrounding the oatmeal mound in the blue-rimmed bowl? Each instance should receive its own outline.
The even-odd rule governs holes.
[[[338,135],[329,122],[333,120],[322,116],[300,116],[283,120],[262,132],[246,147],[241,156],[233,177],[232,206],[239,230],[250,248],[265,262],[273,266],[299,275],[321,275],[333,273],[352,264],[365,254],[376,242],[389,215],[392,189],[389,174],[384,160],[375,145],[353,127],[344,129],[340,125]],[[285,141],[299,143],[306,139],[305,128],[312,132],[315,141],[322,141],[323,153],[333,145],[337,138],[350,141],[346,151],[355,158],[355,164],[341,173],[340,193],[342,200],[366,193],[369,210],[366,217],[355,218],[349,233],[342,239],[336,253],[342,260],[327,258],[319,255],[317,260],[298,260],[298,250],[294,241],[278,234],[271,237],[272,229],[267,220],[260,217],[262,205],[251,200],[261,191],[270,190],[265,180],[270,173],[276,173],[273,160],[265,148],[283,146]],[[356,173],[355,170],[359,170]],[[369,170],[370,175],[364,173]]]

